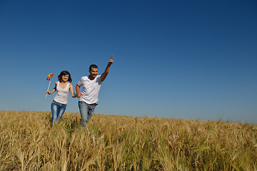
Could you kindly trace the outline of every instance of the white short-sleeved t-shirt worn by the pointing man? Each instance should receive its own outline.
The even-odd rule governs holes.
[[[79,101],[84,101],[88,104],[96,103],[102,82],[101,76],[96,76],[92,81],[89,79],[89,76],[82,77],[78,82],[78,85],[83,88],[82,96],[79,98]]]

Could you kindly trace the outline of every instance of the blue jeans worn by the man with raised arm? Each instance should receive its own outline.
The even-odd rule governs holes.
[[[81,113],[80,125],[85,128],[90,118],[94,114],[96,105],[89,105],[86,102],[79,101],[79,112]]]

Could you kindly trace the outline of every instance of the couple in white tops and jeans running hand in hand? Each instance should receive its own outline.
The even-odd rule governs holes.
[[[68,93],[71,91],[71,96],[73,98],[79,98],[79,111],[81,114],[80,124],[83,127],[86,126],[86,123],[89,122],[89,119],[94,114],[101,83],[106,79],[106,76],[110,71],[111,64],[114,63],[111,58],[109,59],[109,63],[106,66],[104,73],[101,75],[97,75],[98,67],[96,65],[93,64],[89,67],[90,74],[89,76],[82,77],[78,82],[76,85],[76,94],[74,93],[73,86],[71,85],[71,74],[68,71],[61,71],[60,75],[58,76],[59,81],[56,81],[56,86],[54,89],[51,90],[51,92],[46,90],[46,94],[49,95],[57,91],[56,96],[51,103],[51,113],[53,115],[51,121],[52,125],[58,122],[61,119],[61,116],[64,114]],[[81,86],[83,88],[82,93],[79,92]]]

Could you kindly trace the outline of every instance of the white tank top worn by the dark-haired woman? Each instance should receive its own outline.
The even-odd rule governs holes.
[[[56,96],[54,97],[54,100],[61,104],[67,104],[67,98],[69,94],[69,83],[67,84],[66,88],[60,88],[60,82],[58,81],[56,86]]]

